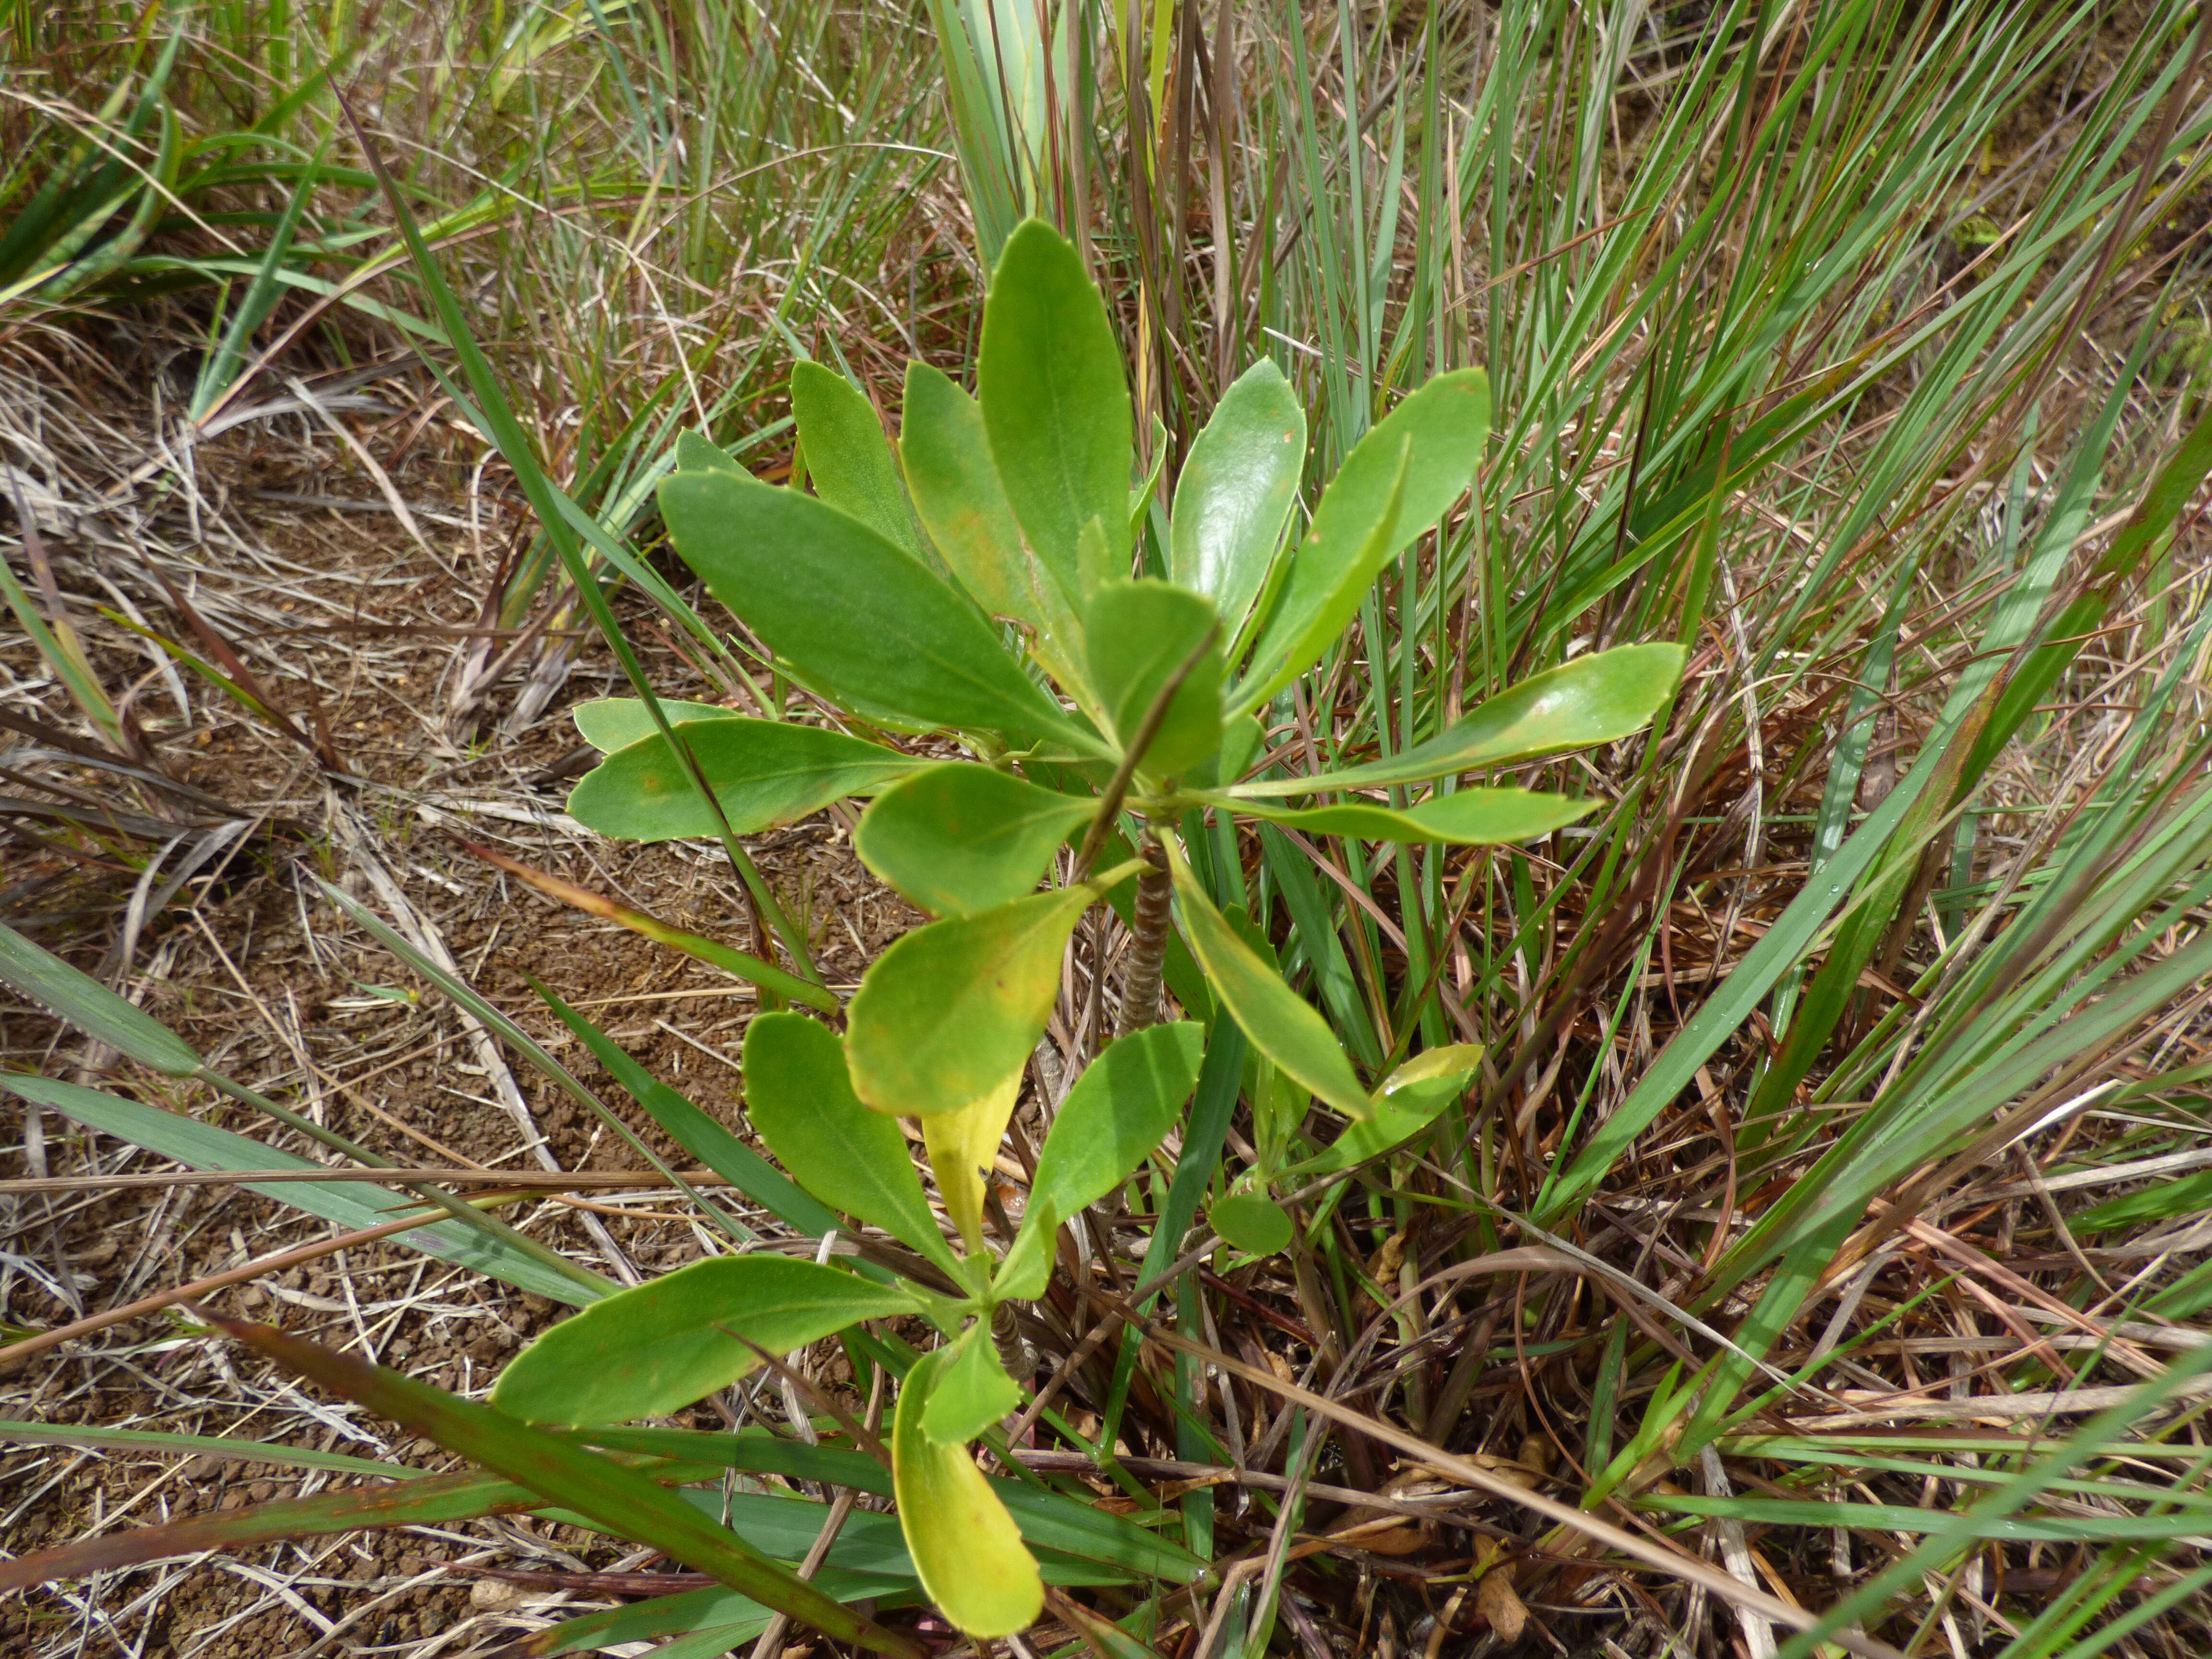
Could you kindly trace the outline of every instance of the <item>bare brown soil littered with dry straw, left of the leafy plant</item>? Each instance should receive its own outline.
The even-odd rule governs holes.
[[[622,1099],[613,1079],[542,1011],[524,973],[584,1006],[657,1077],[739,1126],[737,1068],[728,1055],[750,1018],[750,989],[529,891],[453,838],[458,832],[487,841],[664,920],[748,942],[741,894],[719,852],[597,841],[560,818],[566,781],[531,781],[575,752],[564,710],[611,688],[604,650],[580,653],[538,719],[513,721],[535,666],[529,657],[484,701],[473,730],[445,719],[469,648],[453,630],[476,622],[520,515],[513,502],[480,495],[471,526],[467,489],[476,456],[436,425],[429,434],[449,440],[447,453],[420,440],[407,447],[409,429],[425,431],[436,405],[405,378],[383,380],[376,396],[387,411],[349,416],[416,504],[425,551],[396,524],[361,462],[299,414],[254,420],[208,442],[195,456],[197,502],[137,484],[124,491],[119,509],[102,511],[102,491],[126,478],[142,453],[131,438],[144,436],[146,411],[119,396],[133,367],[80,356],[69,369],[108,380],[91,387],[80,380],[80,389],[100,394],[100,416],[88,414],[95,405],[71,407],[40,383],[7,387],[9,420],[18,431],[40,434],[53,456],[55,495],[66,502],[42,526],[64,602],[102,681],[111,688],[144,681],[135,712],[155,741],[159,768],[254,821],[230,856],[215,858],[146,925],[122,989],[230,1077],[279,1099],[312,1102],[330,1128],[387,1157],[447,1164],[453,1152],[511,1164],[524,1155],[522,1133],[495,1099],[495,1079],[478,1064],[453,1011],[436,991],[420,1000],[367,991],[425,987],[314,887],[314,876],[332,878],[389,914],[369,876],[376,860],[438,929],[469,980],[606,1097]],[[303,504],[301,495],[343,504]],[[97,582],[104,575],[142,606],[150,626],[190,641],[175,604],[146,577],[148,566],[232,641],[272,701],[310,730],[330,732],[349,781],[325,776],[303,745],[201,681],[184,688],[179,706],[168,675],[153,672],[150,648],[97,619],[95,606],[113,602]],[[661,690],[699,695],[699,681],[672,653],[648,635],[641,644]],[[20,635],[0,637],[0,710],[69,723],[71,708],[42,679]],[[27,748],[0,752],[0,768],[22,763]],[[159,796],[131,801],[111,776],[88,768],[49,761],[24,772],[128,810],[175,810]],[[62,838],[51,827],[46,834]],[[153,843],[111,845],[142,856]],[[754,854],[794,914],[807,918],[832,980],[858,978],[867,956],[916,920],[867,876],[845,825],[827,814],[761,836]],[[113,860],[119,869],[88,867],[22,838],[0,856],[0,914],[97,969],[131,896],[128,858]],[[51,1020],[22,1006],[0,1009],[0,1064],[77,1075],[82,1060],[80,1040]],[[533,1073],[518,1066],[513,1079],[564,1168],[644,1168],[628,1146]],[[199,1086],[175,1091],[168,1104],[259,1133],[252,1110]],[[648,1128],[639,1113],[628,1117]],[[0,1106],[0,1124],[4,1177],[164,1168],[51,1113],[31,1126],[15,1102]],[[407,1130],[445,1150],[409,1141]],[[307,1150],[290,1130],[263,1137]],[[648,1141],[677,1164],[692,1164],[650,1128]],[[688,1219],[650,1201],[611,1199],[624,1203],[646,1214],[611,1210],[604,1219],[635,1267],[668,1270],[703,1254]],[[526,1210],[535,1237],[606,1265],[604,1243],[580,1225],[575,1210]],[[0,1318],[42,1329],[330,1230],[250,1192],[204,1186],[0,1197],[0,1234],[7,1234],[0,1250],[40,1263],[49,1281],[9,1270],[0,1281]],[[553,1314],[546,1298],[396,1243],[219,1292],[212,1303],[321,1334],[465,1391],[487,1387],[504,1356]],[[0,1369],[0,1416],[221,1433],[418,1467],[451,1462],[358,1411],[332,1409],[312,1389],[292,1389],[243,1352],[186,1336],[170,1316],[131,1321]],[[11,1553],[27,1553],[345,1480],[301,1480],[301,1471],[212,1458],[9,1449],[0,1451],[0,1535]],[[615,1551],[604,1540],[529,1520],[263,1546],[234,1559],[170,1562],[9,1597],[0,1601],[0,1652],[427,1659],[513,1637],[513,1608],[487,1606],[482,1595],[471,1604],[471,1579],[445,1571],[456,1559],[599,1568],[615,1562]],[[542,1615],[524,1617],[520,1628],[535,1624]]]

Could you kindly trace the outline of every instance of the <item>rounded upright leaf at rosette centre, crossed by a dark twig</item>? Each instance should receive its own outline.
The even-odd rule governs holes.
[[[1152,701],[1208,635],[1212,646],[1177,688],[1139,761],[1155,776],[1181,776],[1221,748],[1221,619],[1210,599],[1152,580],[1108,582],[1084,613],[1091,686],[1124,750],[1135,745]]]

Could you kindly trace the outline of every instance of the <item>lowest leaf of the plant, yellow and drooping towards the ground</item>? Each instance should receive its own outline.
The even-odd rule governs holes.
[[[945,1617],[971,1637],[1011,1637],[1044,1610],[1044,1579],[967,1447],[940,1447],[922,1431],[929,1396],[949,1363],[951,1349],[936,1349],[907,1371],[898,1391],[891,1420],[898,1524],[922,1588]]]

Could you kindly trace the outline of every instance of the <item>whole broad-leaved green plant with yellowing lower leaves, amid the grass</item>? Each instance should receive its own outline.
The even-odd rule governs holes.
[[[1369,1088],[1267,940],[1206,891],[1179,825],[1230,814],[1453,845],[1548,834],[1595,803],[1455,787],[1460,776],[1637,732],[1674,688],[1681,650],[1593,653],[1402,754],[1263,776],[1276,701],[1338,641],[1385,562],[1471,489],[1489,383],[1480,369],[1440,374],[1398,403],[1290,535],[1305,414],[1259,363],[1192,442],[1161,544],[1148,518],[1164,445],[1139,473],[1106,307],[1044,223],[1024,223],[1000,259],[975,396],[909,365],[896,449],[867,398],[821,365],[796,365],[792,407],[812,495],[686,436],[659,487],[661,518],[776,672],[847,730],[701,703],[591,703],[577,723],[608,754],[571,812],[657,841],[748,834],[867,799],[860,858],[936,920],[867,969],[843,1040],[810,1015],[761,1015],[745,1102],[801,1186],[907,1243],[940,1283],[774,1256],[697,1263],[555,1329],[493,1398],[557,1422],[650,1416],[726,1387],[763,1354],[918,1316],[942,1345],[914,1365],[896,1407],[900,1517],[945,1613],[971,1635],[1002,1635],[1035,1617],[1042,1590],[967,1449],[1022,1400],[993,1316],[1042,1294],[1057,1225],[1119,1188],[1172,1128],[1203,1026],[1232,1020],[1261,1062],[1261,1166],[1214,1206],[1223,1234],[1259,1250],[1287,1241],[1263,1197],[1270,1179],[1349,1168],[1411,1137],[1480,1057],[1471,1044],[1436,1048]],[[900,745],[916,734],[949,737],[964,759]],[[987,1170],[1068,940],[1099,902],[1117,902],[1133,931],[1119,1035],[1062,1104],[1020,1228],[995,1254]],[[1170,945],[1194,969],[1192,1018],[1157,1024]],[[1312,1099],[1349,1130],[1294,1164],[1290,1126]],[[958,1250],[894,1117],[920,1119]]]

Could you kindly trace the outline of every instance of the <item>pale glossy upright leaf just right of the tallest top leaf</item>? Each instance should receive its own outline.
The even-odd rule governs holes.
[[[1261,358],[1221,394],[1175,480],[1168,580],[1203,593],[1234,635],[1267,582],[1305,471],[1305,409]]]

